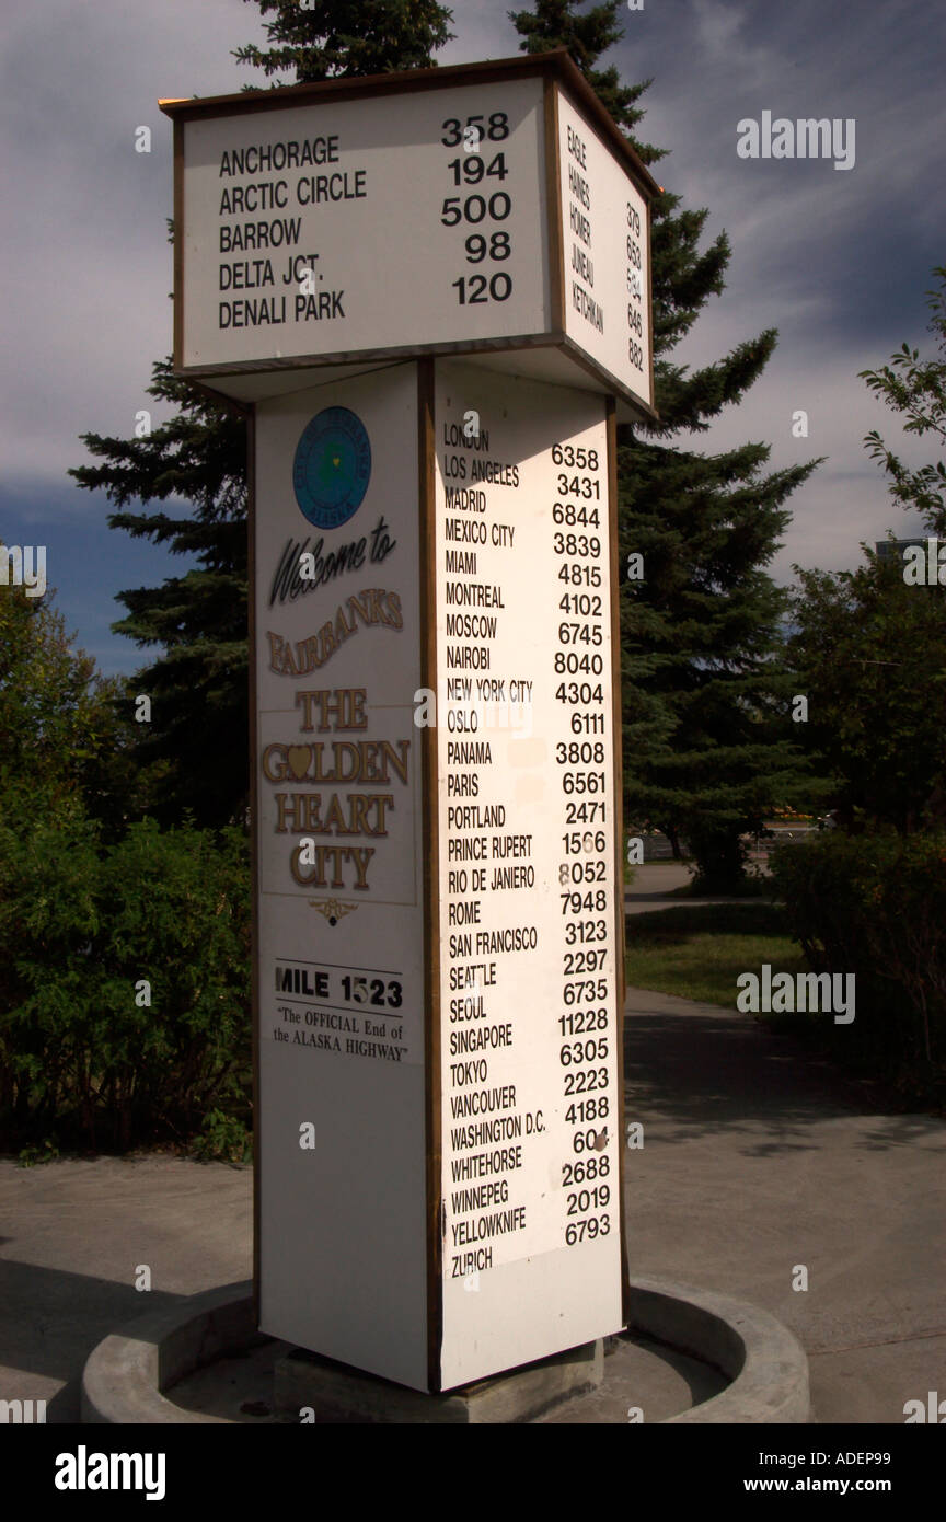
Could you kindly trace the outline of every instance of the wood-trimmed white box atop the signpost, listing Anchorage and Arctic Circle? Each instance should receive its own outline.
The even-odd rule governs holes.
[[[656,416],[660,187],[564,49],[161,110],[179,374],[252,402],[464,355]]]

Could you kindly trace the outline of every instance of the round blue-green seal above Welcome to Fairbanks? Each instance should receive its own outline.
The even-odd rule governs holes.
[[[316,528],[339,528],[354,517],[371,479],[371,443],[360,417],[327,406],[306,425],[295,449],[295,499]]]

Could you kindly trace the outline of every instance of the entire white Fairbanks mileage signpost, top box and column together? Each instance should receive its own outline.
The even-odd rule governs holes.
[[[163,107],[176,370],[254,416],[260,1327],[450,1390],[625,1320],[657,187],[563,52]]]

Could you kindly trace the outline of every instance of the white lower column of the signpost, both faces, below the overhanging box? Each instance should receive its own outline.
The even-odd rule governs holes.
[[[622,1218],[607,403],[440,362],[424,505],[421,391],[260,403],[254,556],[260,1326],[426,1390],[616,1332]]]

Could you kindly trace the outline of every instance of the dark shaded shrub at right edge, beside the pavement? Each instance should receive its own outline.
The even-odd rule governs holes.
[[[946,834],[780,846],[771,871],[818,973],[853,973],[856,1017],[835,1047],[914,1097],[946,1097]]]

